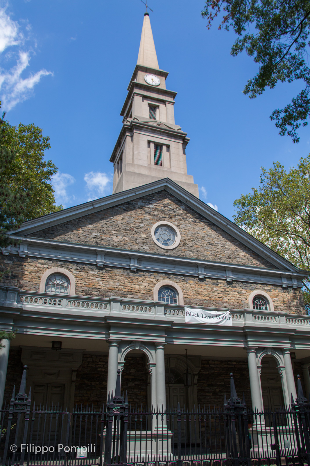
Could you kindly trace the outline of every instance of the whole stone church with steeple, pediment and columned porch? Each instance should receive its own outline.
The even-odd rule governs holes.
[[[102,407],[118,369],[129,403],[150,408],[222,405],[230,372],[258,411],[289,406],[297,373],[310,392],[308,272],[199,199],[167,77],[145,13],[112,195],[27,221],[2,248],[0,328],[17,336],[0,350],[0,403],[23,365],[32,402],[71,411]]]

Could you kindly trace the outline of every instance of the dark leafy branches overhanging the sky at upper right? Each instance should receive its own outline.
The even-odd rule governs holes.
[[[244,94],[255,98],[277,82],[300,80],[303,89],[284,109],[276,109],[279,134],[299,142],[298,128],[308,124],[310,116],[310,68],[308,67],[310,34],[309,0],[207,0],[202,16],[212,21],[223,13],[219,29],[230,27],[239,36],[231,48],[236,56],[243,50],[259,64],[258,73],[248,80]]]

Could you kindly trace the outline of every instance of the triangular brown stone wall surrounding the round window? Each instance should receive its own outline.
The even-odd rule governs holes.
[[[181,242],[175,249],[162,249],[152,240],[152,226],[162,220],[171,222],[180,231]],[[166,191],[85,215],[29,236],[275,268]]]

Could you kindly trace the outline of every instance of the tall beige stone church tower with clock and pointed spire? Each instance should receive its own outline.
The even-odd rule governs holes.
[[[166,89],[159,69],[148,13],[144,15],[138,62],[120,115],[123,127],[112,152],[113,193],[170,178],[199,197],[187,174],[187,133],[174,123],[176,92]]]

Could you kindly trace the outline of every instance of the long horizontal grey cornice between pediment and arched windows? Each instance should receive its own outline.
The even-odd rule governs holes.
[[[164,274],[196,276],[201,279],[215,278],[233,281],[302,287],[303,272],[292,272],[240,264],[221,263],[163,254],[151,254],[119,248],[83,245],[41,238],[10,236],[18,240],[18,247],[2,248],[2,254],[18,254],[21,257],[81,262],[98,267],[121,267],[132,271],[146,270]]]

